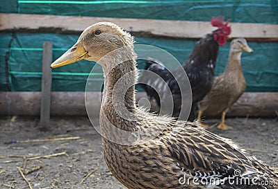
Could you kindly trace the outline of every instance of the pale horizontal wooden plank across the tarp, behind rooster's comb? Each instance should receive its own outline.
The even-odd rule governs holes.
[[[107,17],[74,17],[60,15],[0,14],[0,31],[44,31],[81,33],[99,21],[111,21],[131,33],[174,38],[200,38],[215,29],[208,21],[174,21],[158,19],[122,19]],[[231,23],[231,37],[278,41],[278,24]]]

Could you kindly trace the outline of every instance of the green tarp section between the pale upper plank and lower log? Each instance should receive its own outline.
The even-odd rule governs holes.
[[[10,37],[10,35],[5,34],[3,37]],[[67,48],[70,48],[76,42],[78,37],[78,35],[41,33],[32,35],[28,33],[15,34],[10,47],[8,60],[8,75],[10,75],[12,90],[40,91],[43,42],[51,39],[54,43],[54,60],[56,60],[63,52],[67,51]],[[186,60],[195,42],[195,40],[186,39],[149,39],[136,37],[136,44],[151,44],[163,48],[174,55],[181,63]],[[254,49],[254,53],[243,53],[242,56],[243,72],[247,80],[248,90],[278,91],[278,43],[250,42],[249,44]],[[4,52],[2,48],[1,52]],[[229,43],[220,47],[216,74],[224,70],[228,53]],[[1,62],[3,60],[4,57],[1,56]],[[94,66],[94,63],[83,60],[76,64],[54,69],[53,91],[84,91],[85,82],[92,66]],[[138,66],[142,68],[144,65],[139,61]],[[5,70],[4,67],[1,66],[1,71]],[[1,82],[6,82],[6,80],[2,79]]]

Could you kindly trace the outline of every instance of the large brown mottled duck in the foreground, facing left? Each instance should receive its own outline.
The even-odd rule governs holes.
[[[277,168],[248,156],[229,139],[197,123],[174,121],[136,107],[138,70],[133,37],[119,26],[100,22],[86,28],[51,67],[82,59],[95,61],[103,68],[99,122],[104,159],[127,188],[265,188],[254,184],[278,181]],[[126,135],[135,139],[126,141]],[[254,178],[255,183],[240,186],[227,182],[235,175]]]

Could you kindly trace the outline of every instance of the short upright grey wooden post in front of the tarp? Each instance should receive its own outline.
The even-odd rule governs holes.
[[[51,68],[52,42],[44,42],[42,55],[42,97],[40,103],[40,124],[42,129],[47,129],[50,119],[51,104]]]

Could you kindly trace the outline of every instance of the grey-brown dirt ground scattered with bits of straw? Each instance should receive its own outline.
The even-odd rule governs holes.
[[[230,131],[216,129],[217,121],[204,123],[212,125],[211,132],[278,166],[277,118],[227,118],[227,125],[234,126]],[[0,118],[0,188],[29,188],[18,168],[33,189],[124,188],[109,172],[101,136],[87,117],[53,117],[47,132],[41,132],[38,123],[37,117]]]

